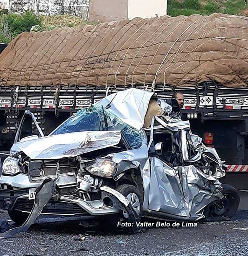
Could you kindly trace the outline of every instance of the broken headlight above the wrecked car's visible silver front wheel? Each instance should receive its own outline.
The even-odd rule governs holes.
[[[116,173],[117,164],[112,162],[110,158],[96,158],[92,165],[88,165],[86,170],[92,175],[111,178]]]

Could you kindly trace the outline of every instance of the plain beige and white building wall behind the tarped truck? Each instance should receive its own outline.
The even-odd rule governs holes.
[[[90,0],[89,21],[151,18],[167,13],[167,0]]]

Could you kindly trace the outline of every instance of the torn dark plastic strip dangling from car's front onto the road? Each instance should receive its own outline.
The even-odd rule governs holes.
[[[19,232],[26,232],[32,224],[35,223],[36,219],[39,217],[43,207],[50,200],[55,190],[55,181],[51,178],[45,179],[43,183],[36,189],[36,196],[34,200],[34,206],[28,219],[24,222],[22,226],[12,228],[2,234],[0,238],[11,238]]]

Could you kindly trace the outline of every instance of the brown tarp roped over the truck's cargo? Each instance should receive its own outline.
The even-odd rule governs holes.
[[[0,55],[4,85],[248,85],[248,18],[122,20],[20,34]]]

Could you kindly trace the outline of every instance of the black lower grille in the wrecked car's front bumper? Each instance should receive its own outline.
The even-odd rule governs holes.
[[[34,200],[28,200],[28,198],[20,198],[14,205],[14,210],[28,211],[33,208]],[[43,208],[42,213],[54,214],[54,215],[87,215],[88,213],[75,203],[58,202],[51,199]]]

